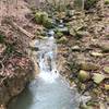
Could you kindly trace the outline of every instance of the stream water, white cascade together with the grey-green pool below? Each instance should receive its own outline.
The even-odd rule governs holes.
[[[80,95],[71,90],[57,70],[57,45],[53,32],[45,40],[36,40],[40,73],[17,97],[10,109],[78,109]]]

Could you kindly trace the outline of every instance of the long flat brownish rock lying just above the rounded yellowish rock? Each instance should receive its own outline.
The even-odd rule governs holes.
[[[99,65],[92,62],[81,62],[81,69],[86,71],[98,70]]]

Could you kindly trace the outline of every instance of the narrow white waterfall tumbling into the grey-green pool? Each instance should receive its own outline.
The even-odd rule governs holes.
[[[36,44],[39,47],[38,64],[40,69],[39,77],[44,81],[52,83],[59,76],[56,60],[57,60],[57,44],[53,38],[53,31],[50,31],[49,37]]]

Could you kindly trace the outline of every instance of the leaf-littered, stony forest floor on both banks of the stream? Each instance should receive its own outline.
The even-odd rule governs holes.
[[[33,71],[27,56],[29,40],[45,37],[45,27],[33,21],[28,4],[22,0],[17,10],[13,5],[5,13],[7,17],[5,4],[4,10],[0,10],[4,15],[0,19],[0,109],[4,109],[10,98],[20,94],[29,80],[28,72]],[[62,19],[69,28],[69,34],[56,33],[58,69],[69,78],[71,86],[76,84],[81,94],[92,96],[87,106],[81,106],[82,109],[108,109],[109,8],[105,8],[104,15],[71,11],[70,17],[65,12],[56,14],[58,21]],[[34,48],[33,45],[31,47]]]

